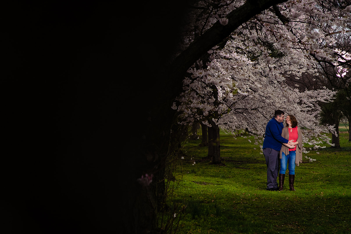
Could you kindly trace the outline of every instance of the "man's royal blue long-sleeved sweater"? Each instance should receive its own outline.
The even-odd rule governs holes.
[[[279,151],[283,143],[288,143],[289,140],[282,137],[283,128],[283,123],[279,123],[275,118],[272,118],[266,126],[262,149],[271,148]]]

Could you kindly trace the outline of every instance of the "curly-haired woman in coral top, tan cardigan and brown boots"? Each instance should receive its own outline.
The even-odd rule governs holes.
[[[289,187],[291,191],[294,189],[295,180],[295,164],[300,165],[302,163],[302,136],[301,130],[297,126],[297,120],[295,116],[288,115],[286,117],[286,127],[282,130],[282,137],[288,140],[293,140],[294,144],[289,145],[284,143],[282,149],[279,152],[280,158],[280,170],[279,170],[279,191],[283,190],[285,171],[287,167],[287,161],[289,160]]]

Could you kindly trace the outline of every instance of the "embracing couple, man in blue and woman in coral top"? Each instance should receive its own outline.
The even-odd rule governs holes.
[[[289,187],[294,189],[295,165],[302,163],[302,136],[297,126],[295,116],[286,117],[286,127],[283,125],[284,111],[276,110],[266,126],[263,141],[263,155],[267,165],[267,190],[282,191],[284,186],[285,171],[289,161]],[[279,170],[280,164],[280,170]],[[277,177],[279,172],[279,186]]]

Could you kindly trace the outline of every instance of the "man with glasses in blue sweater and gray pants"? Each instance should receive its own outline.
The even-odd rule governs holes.
[[[283,143],[293,143],[282,137],[284,111],[276,110],[266,126],[265,138],[263,141],[263,155],[267,165],[267,190],[278,190],[277,177],[279,172],[279,151]]]

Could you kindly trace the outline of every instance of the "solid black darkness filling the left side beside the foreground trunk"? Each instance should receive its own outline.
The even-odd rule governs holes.
[[[138,130],[172,90],[157,70],[178,40],[174,2],[3,6],[4,233],[119,232],[121,194],[142,172]]]

